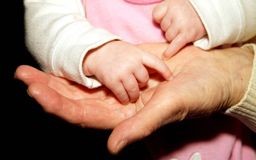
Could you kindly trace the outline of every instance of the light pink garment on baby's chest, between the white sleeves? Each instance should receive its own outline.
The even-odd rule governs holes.
[[[150,0],[151,3],[154,1]],[[87,0],[86,17],[94,27],[105,28],[133,44],[167,42],[165,33],[152,18],[151,12],[156,5],[139,5],[125,0],[111,0],[111,3]]]

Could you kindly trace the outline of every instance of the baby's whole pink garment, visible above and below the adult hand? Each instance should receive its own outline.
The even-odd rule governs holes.
[[[81,0],[87,20],[125,41],[167,42],[151,12],[162,0]],[[227,115],[187,119],[169,124],[145,138],[154,160],[256,160],[248,129]],[[199,159],[195,159],[199,160]]]

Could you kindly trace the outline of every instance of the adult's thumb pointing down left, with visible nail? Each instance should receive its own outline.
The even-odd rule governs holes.
[[[161,90],[167,91],[164,88]],[[165,124],[180,121],[186,115],[181,107],[177,107],[178,101],[173,95],[163,97],[163,94],[155,91],[151,98],[145,99],[149,101],[139,112],[113,129],[108,139],[108,150],[112,154],[118,154],[128,144],[147,137]]]

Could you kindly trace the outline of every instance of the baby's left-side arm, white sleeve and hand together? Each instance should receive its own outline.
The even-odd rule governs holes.
[[[148,81],[144,66],[172,76],[157,56],[90,25],[80,0],[25,0],[24,6],[26,46],[47,73],[88,88],[103,83],[124,104],[136,101]]]

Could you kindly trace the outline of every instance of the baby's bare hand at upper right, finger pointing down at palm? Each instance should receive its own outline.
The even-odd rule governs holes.
[[[201,19],[189,0],[164,0],[152,11],[152,16],[166,39],[171,42],[162,59],[170,59],[189,42],[201,39],[207,34]]]

